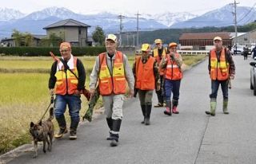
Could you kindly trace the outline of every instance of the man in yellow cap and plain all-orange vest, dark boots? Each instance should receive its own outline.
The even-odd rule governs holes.
[[[152,96],[155,86],[160,89],[160,76],[158,63],[150,56],[150,45],[142,45],[142,57],[137,57],[133,72],[135,76],[135,88],[138,89],[138,96],[142,107],[144,119],[142,123],[150,125],[150,113],[152,108]]]

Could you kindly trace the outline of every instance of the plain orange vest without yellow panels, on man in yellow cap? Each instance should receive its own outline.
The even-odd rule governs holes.
[[[142,57],[136,60],[136,84],[135,88],[141,90],[154,90],[154,57],[150,57],[145,64],[142,63]]]

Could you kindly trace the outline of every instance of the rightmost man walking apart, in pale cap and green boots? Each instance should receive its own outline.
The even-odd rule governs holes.
[[[218,87],[221,84],[223,103],[222,111],[229,114],[228,106],[228,83],[234,79],[235,65],[230,51],[222,47],[222,37],[214,37],[214,49],[209,53],[208,70],[211,79],[210,111],[206,115],[215,115],[217,106]]]

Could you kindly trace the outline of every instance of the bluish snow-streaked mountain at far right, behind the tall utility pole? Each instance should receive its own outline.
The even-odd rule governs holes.
[[[192,18],[184,22],[178,22],[171,25],[171,28],[200,28],[205,26],[228,26],[234,25],[234,7],[230,5],[223,6],[218,10],[212,10],[197,18]],[[237,21],[238,25],[245,25],[256,19],[256,9],[250,7],[237,7]]]

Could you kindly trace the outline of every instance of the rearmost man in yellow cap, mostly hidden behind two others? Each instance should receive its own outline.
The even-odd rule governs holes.
[[[153,50],[153,57],[156,59],[158,62],[158,66],[162,60],[163,57],[166,57],[167,54],[167,49],[162,46],[162,40],[161,39],[156,39],[154,40],[154,44],[156,45],[156,48]],[[162,90],[163,88],[163,83],[164,83],[164,72],[162,69],[159,69],[160,73],[160,90],[156,91],[158,95],[158,104],[154,105],[154,107],[164,107],[164,92]]]

